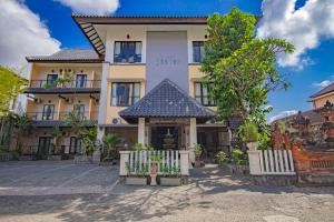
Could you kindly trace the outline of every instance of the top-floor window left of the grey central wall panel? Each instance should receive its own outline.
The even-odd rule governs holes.
[[[117,41],[114,49],[114,62],[141,62],[141,42]]]

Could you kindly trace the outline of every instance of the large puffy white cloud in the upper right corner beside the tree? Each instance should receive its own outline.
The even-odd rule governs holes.
[[[293,54],[278,58],[283,67],[302,69],[312,62],[305,53],[318,47],[322,38],[334,38],[334,1],[307,0],[295,10],[296,0],[264,0],[259,38],[282,38],[292,42]]]

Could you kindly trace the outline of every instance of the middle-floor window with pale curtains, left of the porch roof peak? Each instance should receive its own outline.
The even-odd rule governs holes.
[[[140,83],[112,83],[111,105],[129,107],[140,99]]]

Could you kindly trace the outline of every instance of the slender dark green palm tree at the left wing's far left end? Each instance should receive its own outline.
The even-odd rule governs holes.
[[[19,154],[22,154],[22,142],[21,139],[24,135],[29,135],[32,133],[33,125],[30,118],[27,113],[23,114],[12,114],[14,128],[17,129],[17,151]]]

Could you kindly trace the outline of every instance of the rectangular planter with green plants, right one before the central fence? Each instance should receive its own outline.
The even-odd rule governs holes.
[[[160,167],[160,185],[175,186],[181,184],[179,167],[168,167],[165,164]]]

